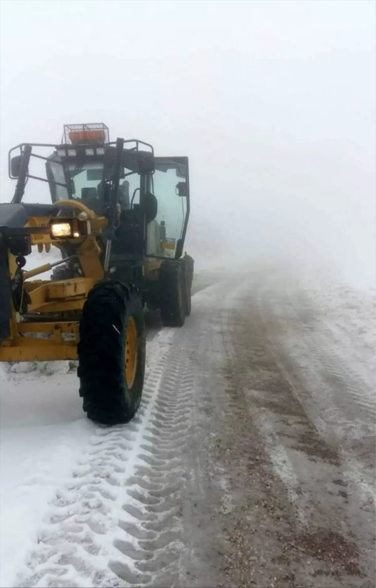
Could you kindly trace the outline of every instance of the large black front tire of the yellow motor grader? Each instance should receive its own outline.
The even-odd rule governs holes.
[[[137,336],[134,382],[125,377],[125,334],[132,319]],[[127,423],[141,402],[145,376],[145,322],[132,285],[102,280],[89,292],[79,323],[79,395],[88,418],[104,425]]]

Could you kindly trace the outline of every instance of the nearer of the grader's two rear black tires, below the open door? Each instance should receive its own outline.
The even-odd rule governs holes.
[[[159,270],[161,319],[165,327],[181,327],[185,323],[185,279],[182,263],[164,263]]]

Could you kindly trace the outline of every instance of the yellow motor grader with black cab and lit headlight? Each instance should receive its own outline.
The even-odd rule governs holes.
[[[32,173],[35,161],[45,177]],[[0,205],[0,361],[78,360],[89,419],[127,422],[144,385],[145,307],[160,309],[165,326],[191,312],[188,158],[110,142],[96,123],[65,125],[57,145],[17,145],[8,168],[16,188]],[[35,180],[50,202],[27,202]],[[27,269],[33,246],[61,260]]]

